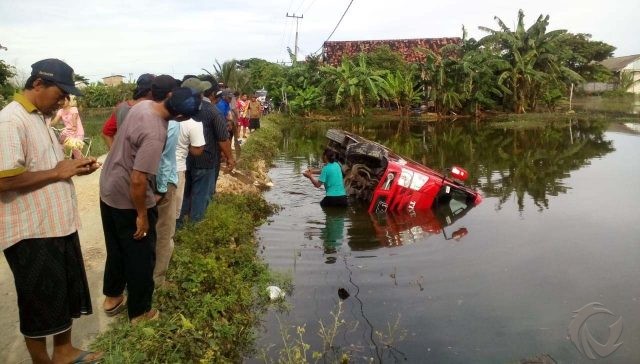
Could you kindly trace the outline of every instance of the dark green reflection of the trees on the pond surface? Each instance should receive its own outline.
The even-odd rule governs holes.
[[[612,152],[604,138],[604,120],[446,122],[414,124],[397,135],[389,122],[344,123],[347,131],[386,145],[432,169],[460,165],[469,172],[467,183],[486,197],[498,197],[497,209],[515,196],[518,210],[529,197],[538,210],[549,208],[549,197],[568,192],[564,180],[590,160]],[[366,125],[363,128],[363,125]],[[326,143],[324,133],[336,125],[311,124],[285,131],[288,155],[306,155],[307,163]]]

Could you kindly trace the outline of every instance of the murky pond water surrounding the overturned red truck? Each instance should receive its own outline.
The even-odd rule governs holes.
[[[303,325],[310,352],[321,351],[319,322],[330,326],[341,302],[333,347],[353,362],[512,363],[541,353],[559,363],[640,362],[637,125],[445,122],[400,137],[394,125],[300,126],[284,136],[266,193],[283,209],[258,234],[262,256],[294,289],[290,311],[264,318],[258,346],[269,357],[284,329],[291,344]],[[437,170],[460,165],[484,200],[449,221],[371,216],[357,204],[323,211],[323,190],[301,173],[317,165],[329,127]],[[608,327],[618,318],[619,338],[619,326]]]

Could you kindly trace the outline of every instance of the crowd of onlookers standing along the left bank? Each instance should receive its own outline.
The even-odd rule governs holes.
[[[76,151],[65,158],[49,127],[57,115],[53,122],[65,125],[61,138],[83,138],[70,97],[80,94],[73,69],[45,59],[0,111],[0,246],[34,363],[94,363],[103,355],[71,343],[72,319],[92,313],[71,177],[101,164]],[[105,314],[126,310],[132,324],[159,316],[152,297],[171,284],[165,276],[176,227],[204,218],[222,164],[235,167],[232,145],[238,152],[261,115],[255,95],[248,100],[213,77],[192,75],[143,74],[132,98],[115,107],[102,129],[110,150],[100,175]]]

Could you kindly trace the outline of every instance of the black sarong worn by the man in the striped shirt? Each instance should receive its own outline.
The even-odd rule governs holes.
[[[77,232],[25,239],[5,249],[4,256],[13,272],[24,336],[65,332],[72,318],[92,313]]]

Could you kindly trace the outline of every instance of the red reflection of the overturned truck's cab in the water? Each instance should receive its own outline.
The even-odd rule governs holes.
[[[391,247],[412,243],[435,234],[443,234],[445,240],[460,240],[468,234],[466,228],[459,228],[450,234],[447,234],[445,228],[463,217],[473,206],[467,202],[464,194],[454,192],[450,200],[437,203],[431,209],[370,216],[380,244]]]

